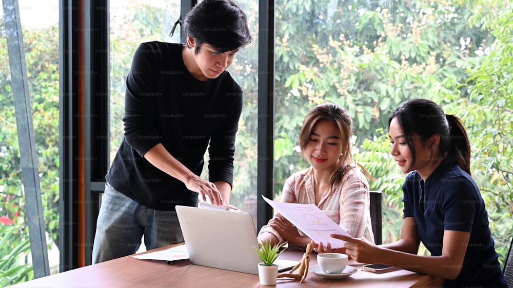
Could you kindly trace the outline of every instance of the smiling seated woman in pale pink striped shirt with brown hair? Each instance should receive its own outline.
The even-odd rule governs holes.
[[[351,135],[352,120],[344,108],[324,103],[310,110],[299,134],[301,155],[310,167],[287,179],[281,201],[313,203],[352,237],[374,242],[369,185],[361,169],[370,175],[352,159]],[[302,248],[311,242],[280,214],[262,227],[258,239]],[[344,251],[341,248],[332,252]]]

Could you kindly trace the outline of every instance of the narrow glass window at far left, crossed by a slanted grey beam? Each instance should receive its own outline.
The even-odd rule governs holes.
[[[58,1],[19,0],[23,45],[31,100],[35,149],[42,194],[48,258],[58,271]],[[14,15],[8,15],[12,17]],[[0,286],[32,279],[27,211],[15,119],[5,15],[0,6]],[[16,68],[19,69],[19,68]],[[21,138],[18,138],[21,136]],[[24,140],[25,139],[25,140]]]

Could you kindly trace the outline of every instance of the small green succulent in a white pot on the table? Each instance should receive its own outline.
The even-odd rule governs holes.
[[[255,247],[257,255],[262,260],[262,262],[258,264],[258,275],[261,285],[276,285],[278,265],[274,264],[274,261],[285,251],[280,251],[282,245],[283,244],[271,245],[269,241],[262,242],[258,247]]]

